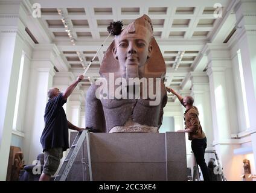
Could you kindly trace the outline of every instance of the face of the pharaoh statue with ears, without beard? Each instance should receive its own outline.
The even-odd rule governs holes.
[[[152,53],[150,45],[151,36],[143,27],[138,27],[136,33],[123,32],[115,39],[114,57],[120,63],[120,68],[125,70],[127,65],[144,66],[147,57]]]

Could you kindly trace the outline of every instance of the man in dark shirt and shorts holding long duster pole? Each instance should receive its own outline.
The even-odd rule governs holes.
[[[66,113],[62,107],[66,103],[68,96],[71,95],[83,78],[83,75],[79,75],[77,80],[63,93],[56,87],[48,90],[49,101],[46,104],[44,115],[45,128],[40,139],[43,152],[45,153],[45,163],[39,181],[50,180],[51,176],[57,171],[63,151],[69,148],[68,128],[77,131],[84,129],[72,125],[66,119]]]

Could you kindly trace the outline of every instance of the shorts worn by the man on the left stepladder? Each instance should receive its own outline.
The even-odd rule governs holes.
[[[43,173],[53,176],[60,165],[60,159],[62,159],[62,147],[51,148],[44,151],[45,164],[43,165]]]

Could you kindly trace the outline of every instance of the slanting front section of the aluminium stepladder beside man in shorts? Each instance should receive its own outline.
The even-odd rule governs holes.
[[[83,141],[85,140],[85,137],[88,136],[88,130],[83,130],[82,132],[79,132],[77,136],[75,137],[74,142],[72,143],[71,147],[69,148],[68,154],[65,157],[64,162],[62,163],[62,166],[60,167],[60,170],[55,177],[54,181],[65,181],[68,177],[69,171],[75,161],[75,158],[77,157],[78,151],[80,150]]]

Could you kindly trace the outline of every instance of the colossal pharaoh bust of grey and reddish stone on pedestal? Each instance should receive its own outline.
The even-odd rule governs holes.
[[[166,72],[149,16],[115,36],[86,93],[86,128],[96,132],[158,133],[167,103]]]

